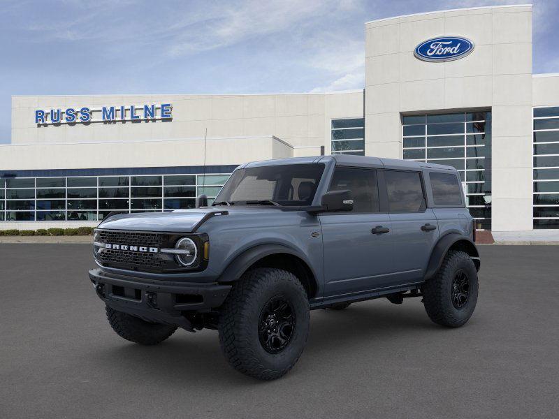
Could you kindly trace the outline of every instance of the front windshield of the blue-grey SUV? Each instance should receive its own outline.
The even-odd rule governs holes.
[[[214,205],[311,205],[324,164],[282,164],[236,170]]]

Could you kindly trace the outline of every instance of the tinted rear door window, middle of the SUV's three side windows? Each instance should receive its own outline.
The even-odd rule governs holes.
[[[418,172],[384,172],[390,212],[420,212],[426,209],[426,200]]]

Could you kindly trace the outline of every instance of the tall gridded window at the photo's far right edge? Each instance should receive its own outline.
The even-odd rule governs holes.
[[[559,106],[534,108],[534,229],[559,229]]]

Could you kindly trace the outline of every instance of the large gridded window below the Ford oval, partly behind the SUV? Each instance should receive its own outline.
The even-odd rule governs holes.
[[[491,230],[491,112],[402,117],[403,157],[455,167],[476,228]]]

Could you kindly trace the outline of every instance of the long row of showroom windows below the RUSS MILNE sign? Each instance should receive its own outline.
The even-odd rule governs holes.
[[[101,221],[109,212],[170,211],[212,203],[229,178],[210,175],[0,179],[0,221]]]

